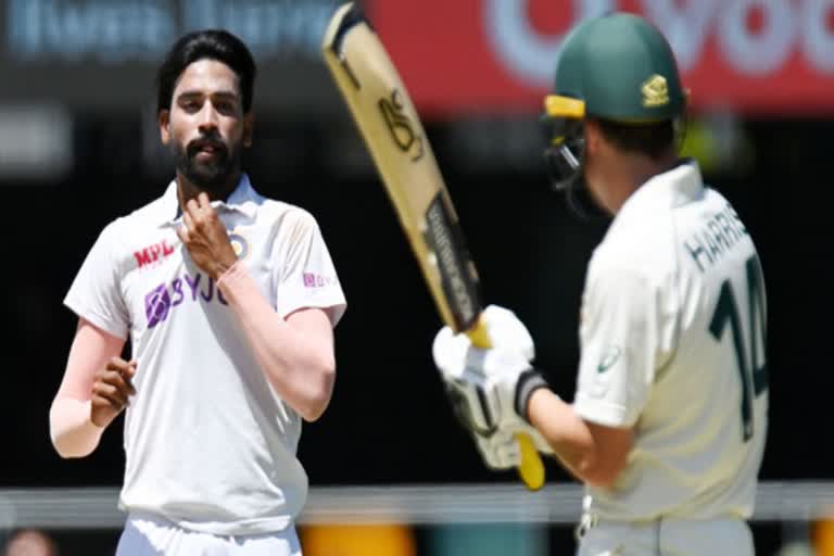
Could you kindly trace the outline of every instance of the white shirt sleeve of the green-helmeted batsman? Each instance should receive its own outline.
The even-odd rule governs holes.
[[[661,307],[660,289],[640,271],[592,264],[580,325],[580,417],[608,427],[636,422],[666,351]]]

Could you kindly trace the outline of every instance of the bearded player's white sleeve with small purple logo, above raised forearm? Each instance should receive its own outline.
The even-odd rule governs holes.
[[[336,326],[346,302],[318,224],[301,210],[287,217],[291,218],[288,232],[277,238],[281,255],[276,269],[276,311],[286,318],[300,308],[328,309]]]

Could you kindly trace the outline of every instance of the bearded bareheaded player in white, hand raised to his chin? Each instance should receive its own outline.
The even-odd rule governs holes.
[[[301,554],[295,451],[330,401],[345,301],[315,218],[241,169],[254,79],[229,33],[173,46],[157,121],[176,177],[104,228],[65,299],[78,328],[52,442],[84,457],[127,408],[118,556]]]

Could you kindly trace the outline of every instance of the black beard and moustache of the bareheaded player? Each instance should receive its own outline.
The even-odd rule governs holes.
[[[210,161],[200,161],[198,153],[208,143],[216,155]],[[218,137],[201,137],[187,147],[177,143],[174,148],[177,170],[193,186],[208,193],[224,193],[233,189],[229,180],[240,169],[242,149],[239,144],[226,146]]]

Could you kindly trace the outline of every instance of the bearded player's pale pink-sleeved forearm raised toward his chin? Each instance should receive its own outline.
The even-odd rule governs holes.
[[[332,345],[308,338],[281,319],[241,264],[218,280],[269,382],[305,420],[327,408],[336,380]]]

